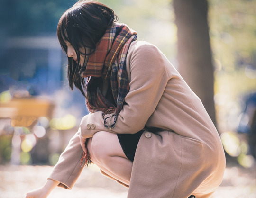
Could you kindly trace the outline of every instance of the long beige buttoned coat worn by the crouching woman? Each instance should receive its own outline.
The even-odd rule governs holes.
[[[133,42],[126,65],[130,90],[116,126],[109,131],[102,112],[88,114],[81,121],[82,136],[102,130],[132,134],[152,127],[137,145],[128,198],[210,197],[222,181],[225,156],[200,99],[155,45]],[[48,177],[67,189],[83,169],[78,134]]]

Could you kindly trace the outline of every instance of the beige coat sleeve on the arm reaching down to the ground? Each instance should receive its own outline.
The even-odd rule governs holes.
[[[68,146],[47,178],[59,181],[58,186],[64,189],[72,189],[85,165],[80,165],[83,151],[80,145],[79,134],[80,130],[69,141]]]

